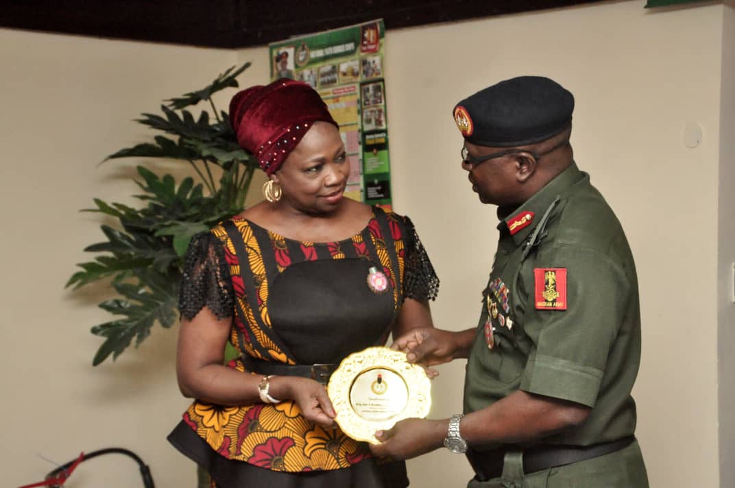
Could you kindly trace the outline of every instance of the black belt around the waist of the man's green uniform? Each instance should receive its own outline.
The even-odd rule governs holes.
[[[634,436],[623,437],[611,442],[589,446],[577,445],[537,445],[523,451],[523,473],[535,473],[550,467],[564,466],[573,462],[604,456],[620,451],[635,440]],[[487,481],[503,475],[503,458],[506,449],[476,451],[467,449],[467,459],[475,470],[478,481]]]

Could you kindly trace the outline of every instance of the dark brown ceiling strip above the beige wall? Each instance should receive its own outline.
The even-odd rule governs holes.
[[[0,26],[243,48],[374,18],[396,29],[592,1],[599,0],[6,0]]]

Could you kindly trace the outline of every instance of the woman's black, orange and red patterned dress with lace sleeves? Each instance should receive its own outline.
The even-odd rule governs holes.
[[[383,282],[371,281],[376,273]],[[179,309],[189,320],[204,306],[232,317],[230,341],[243,355],[338,364],[384,344],[404,300],[433,300],[438,286],[411,220],[378,207],[362,232],[332,243],[291,240],[232,218],[191,243]],[[241,359],[229,367],[254,374]],[[218,487],[408,484],[403,462],[373,459],[364,442],[309,422],[293,401],[195,401],[168,439]]]

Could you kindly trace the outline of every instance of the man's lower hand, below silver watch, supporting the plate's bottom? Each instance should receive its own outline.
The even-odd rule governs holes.
[[[411,459],[442,447],[446,435],[446,420],[409,418],[390,430],[377,431],[375,437],[381,444],[370,444],[370,451],[388,459]]]

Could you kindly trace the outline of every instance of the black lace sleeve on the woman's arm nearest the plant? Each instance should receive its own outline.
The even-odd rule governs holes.
[[[218,319],[232,317],[234,293],[222,243],[210,232],[191,240],[184,261],[179,312],[192,320],[209,307]]]

